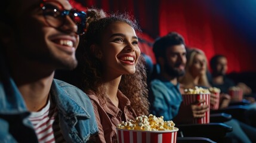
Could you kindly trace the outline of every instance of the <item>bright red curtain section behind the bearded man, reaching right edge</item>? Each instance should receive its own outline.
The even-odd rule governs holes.
[[[164,36],[171,31],[180,33],[187,45],[202,49],[208,60],[215,54],[226,55],[229,72],[256,71],[255,43],[251,40],[251,36],[255,36],[246,34],[246,24],[233,19],[246,20],[251,16],[235,15],[239,9],[246,11],[243,7],[248,2],[244,2],[162,0],[159,8],[159,35]],[[254,22],[249,21],[251,25],[247,25],[253,27]]]

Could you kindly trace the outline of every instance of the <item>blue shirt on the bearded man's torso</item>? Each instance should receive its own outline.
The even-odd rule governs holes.
[[[164,120],[173,120],[182,100],[179,84],[173,85],[162,79],[154,79],[150,83],[150,113],[164,116]]]

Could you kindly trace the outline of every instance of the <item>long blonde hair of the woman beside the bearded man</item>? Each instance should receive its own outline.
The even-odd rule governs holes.
[[[198,84],[196,85],[196,83],[193,82],[193,79],[195,79],[195,77],[192,76],[191,73],[191,67],[193,64],[193,61],[195,59],[195,55],[200,54],[204,57],[205,59],[205,64],[206,64],[206,70],[205,73],[203,73],[198,80]],[[201,49],[197,49],[197,48],[192,48],[189,49],[187,51],[187,63],[186,63],[186,67],[185,67],[185,71],[186,74],[180,78],[180,83],[182,83],[184,85],[185,88],[193,88],[194,86],[205,86],[205,87],[209,87],[211,86],[208,82],[207,76],[206,76],[206,72],[207,72],[208,66],[207,66],[207,58],[205,56],[205,53],[201,50]]]

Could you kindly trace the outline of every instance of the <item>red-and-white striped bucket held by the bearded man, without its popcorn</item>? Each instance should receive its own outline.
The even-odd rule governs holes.
[[[210,105],[210,94],[183,94],[183,104],[191,105],[198,100],[205,100],[205,102],[198,105]],[[210,122],[210,110],[206,111],[205,117],[193,119],[193,123],[205,124]]]

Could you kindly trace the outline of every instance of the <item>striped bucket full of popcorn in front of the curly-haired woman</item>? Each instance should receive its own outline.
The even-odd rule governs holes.
[[[164,117],[156,117],[152,114],[138,116],[136,120],[129,120],[118,125],[119,143],[175,143],[178,128],[172,121],[164,121]]]

